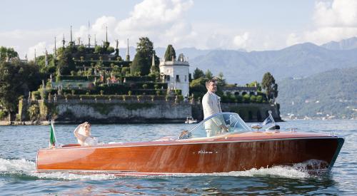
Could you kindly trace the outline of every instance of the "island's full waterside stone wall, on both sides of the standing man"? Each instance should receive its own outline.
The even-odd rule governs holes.
[[[223,112],[238,113],[246,122],[262,122],[268,110],[281,121],[278,104],[222,103],[221,107]],[[30,115],[30,108],[37,113]],[[177,100],[21,100],[18,115],[20,122],[54,119],[56,123],[183,123],[188,116],[203,120],[200,102]]]

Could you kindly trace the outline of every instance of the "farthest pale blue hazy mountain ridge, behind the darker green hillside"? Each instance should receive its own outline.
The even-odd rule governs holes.
[[[357,66],[357,49],[331,51],[313,43],[297,44],[279,51],[211,51],[190,59],[191,71],[198,67],[223,73],[229,83],[261,81],[271,72],[276,80],[301,78],[333,68]]]

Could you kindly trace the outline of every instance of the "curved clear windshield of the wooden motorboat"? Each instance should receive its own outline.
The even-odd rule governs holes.
[[[217,113],[198,123],[191,130],[183,131],[178,140],[208,138],[216,135],[251,131],[237,113]]]

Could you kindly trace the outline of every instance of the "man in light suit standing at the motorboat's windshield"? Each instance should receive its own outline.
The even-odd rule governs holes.
[[[216,95],[217,91],[217,81],[211,79],[206,82],[207,93],[202,98],[203,115],[204,118],[208,118],[213,114],[221,113],[221,98]],[[206,129],[207,137],[218,135],[224,131],[227,131],[227,127],[221,116],[207,120],[204,123],[204,128]]]

